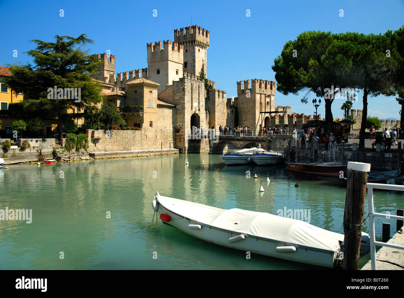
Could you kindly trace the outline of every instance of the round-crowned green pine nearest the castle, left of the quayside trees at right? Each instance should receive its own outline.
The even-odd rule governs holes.
[[[298,95],[303,91],[302,103],[308,103],[310,92],[324,98],[328,131],[332,128],[331,105],[335,97],[330,89],[344,87],[338,78],[339,69],[347,60],[333,50],[335,44],[335,34],[331,32],[303,32],[297,39],[286,42],[272,66],[277,90],[282,94]]]

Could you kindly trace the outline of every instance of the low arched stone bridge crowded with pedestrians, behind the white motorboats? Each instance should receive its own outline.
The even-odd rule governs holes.
[[[251,147],[261,147],[268,150],[284,151],[288,140],[293,139],[291,134],[268,134],[267,136],[231,136],[219,135],[217,142],[209,140],[209,154],[223,154],[227,145],[233,144],[235,150]]]

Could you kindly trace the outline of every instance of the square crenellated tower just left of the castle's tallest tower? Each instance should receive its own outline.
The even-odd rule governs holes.
[[[147,44],[147,79],[160,84],[158,92],[183,77],[183,46],[177,42],[163,40]]]

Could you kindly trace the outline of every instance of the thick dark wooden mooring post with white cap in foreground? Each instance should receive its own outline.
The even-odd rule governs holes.
[[[358,270],[366,183],[370,164],[348,162],[347,194],[344,210],[344,270]]]

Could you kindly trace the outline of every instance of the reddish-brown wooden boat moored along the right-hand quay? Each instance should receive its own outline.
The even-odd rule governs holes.
[[[305,174],[313,175],[324,175],[324,176],[339,176],[341,171],[344,172],[347,166],[344,166],[340,162],[290,162],[288,164],[288,170],[292,172],[299,172]]]

